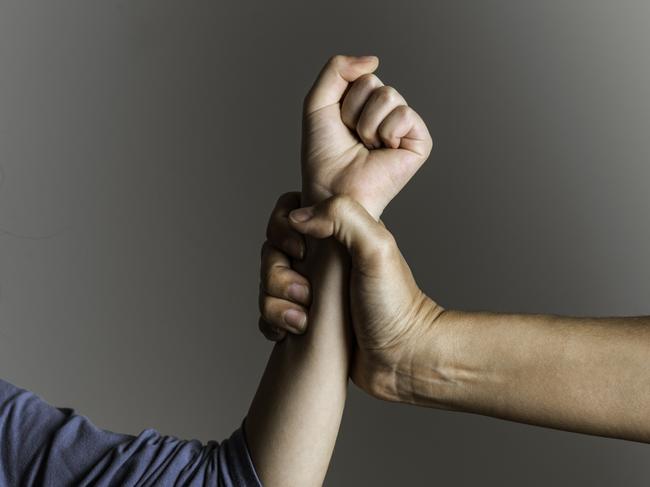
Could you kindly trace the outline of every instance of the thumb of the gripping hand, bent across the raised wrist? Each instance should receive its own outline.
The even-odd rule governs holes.
[[[397,249],[386,227],[349,196],[332,196],[315,206],[293,210],[289,223],[311,237],[334,237],[357,266],[372,265]]]

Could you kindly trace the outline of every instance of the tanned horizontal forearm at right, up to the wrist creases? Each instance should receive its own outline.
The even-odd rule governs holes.
[[[650,318],[448,310],[429,330],[399,400],[650,442]]]

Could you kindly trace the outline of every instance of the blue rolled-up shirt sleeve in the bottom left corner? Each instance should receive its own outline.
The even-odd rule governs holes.
[[[114,433],[0,380],[0,485],[261,487],[243,428],[221,444]]]

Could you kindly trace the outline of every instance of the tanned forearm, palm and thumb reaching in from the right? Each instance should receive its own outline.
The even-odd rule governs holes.
[[[351,376],[371,395],[650,442],[650,317],[447,310],[353,199],[290,210],[292,229],[348,250],[358,336]]]

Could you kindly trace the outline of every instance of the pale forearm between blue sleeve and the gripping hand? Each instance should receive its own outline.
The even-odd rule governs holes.
[[[314,298],[307,332],[275,346],[246,419],[253,462],[266,487],[322,484],[345,404],[347,256],[332,241],[310,247]]]

